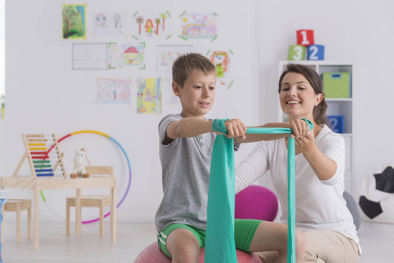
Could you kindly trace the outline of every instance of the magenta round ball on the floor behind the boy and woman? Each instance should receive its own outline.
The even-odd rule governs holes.
[[[278,213],[278,199],[271,190],[250,185],[235,195],[235,218],[273,221]]]

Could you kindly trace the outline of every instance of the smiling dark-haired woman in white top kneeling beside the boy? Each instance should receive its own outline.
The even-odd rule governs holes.
[[[342,197],[345,143],[328,127],[322,79],[308,66],[288,64],[279,79],[282,111],[294,122],[306,118],[313,129],[296,136],[296,227],[307,237],[303,262],[352,263],[361,255],[353,218]],[[297,122],[299,125],[299,122]],[[293,137],[293,136],[292,136]],[[236,193],[268,170],[287,223],[288,137],[262,141],[236,168]],[[263,262],[274,262],[275,252],[259,252]]]

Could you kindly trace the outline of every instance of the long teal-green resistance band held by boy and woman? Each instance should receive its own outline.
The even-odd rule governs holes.
[[[228,119],[215,119],[212,130],[228,133],[224,122]],[[312,122],[305,120],[309,129]],[[287,262],[295,263],[295,145],[290,137],[290,128],[248,128],[246,133],[278,134],[289,133],[287,150],[287,185],[288,185],[288,238]],[[206,220],[205,255],[206,263],[236,263],[234,241],[234,206],[235,206],[235,165],[234,139],[217,135],[212,150],[211,169],[208,188],[208,209]]]

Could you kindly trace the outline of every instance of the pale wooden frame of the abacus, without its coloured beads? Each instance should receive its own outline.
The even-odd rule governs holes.
[[[41,137],[45,137],[45,135],[43,135],[43,134],[28,134],[28,135],[26,135],[26,134],[22,133],[22,140],[23,140],[23,144],[24,144],[26,152],[23,154],[22,159],[20,159],[20,162],[18,163],[17,168],[15,169],[14,173],[12,174],[12,177],[16,177],[17,176],[17,173],[18,173],[20,167],[22,166],[25,158],[27,157],[28,162],[29,162],[29,166],[30,166],[30,171],[32,171],[32,176],[35,179],[35,178],[37,178],[37,174],[35,173],[35,167],[34,167],[34,164],[33,164],[32,155],[30,154],[28,141],[45,141],[45,139],[27,139],[26,137],[38,137],[38,138],[41,138]],[[53,141],[54,141],[54,148],[55,148],[54,150],[58,154],[58,160],[56,160],[55,164],[53,165],[52,171],[54,172],[56,170],[56,168],[58,167],[58,165],[60,165],[61,173],[62,173],[63,177],[66,178],[67,174],[66,174],[66,170],[64,168],[63,159],[62,159],[63,153],[60,153],[60,151],[59,151],[58,140],[56,139],[55,133],[52,134],[52,138],[53,138]],[[49,151],[51,149],[47,149],[47,150]],[[47,152],[43,152],[43,153],[48,154],[48,151]]]

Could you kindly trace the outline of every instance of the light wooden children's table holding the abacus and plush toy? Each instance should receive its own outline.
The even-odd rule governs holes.
[[[0,177],[2,187],[13,187],[34,190],[34,249],[38,249],[38,199],[40,190],[76,189],[75,236],[81,232],[81,189],[82,188],[111,188],[111,240],[116,243],[116,178],[96,177],[63,178],[61,177]]]

